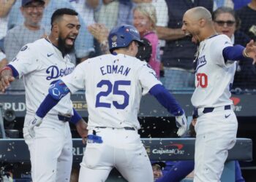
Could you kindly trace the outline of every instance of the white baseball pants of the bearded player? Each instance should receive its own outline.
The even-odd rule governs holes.
[[[31,138],[28,124],[34,114],[26,114],[23,137],[29,146],[31,176],[34,182],[69,182],[72,169],[72,136],[69,122],[47,115]]]

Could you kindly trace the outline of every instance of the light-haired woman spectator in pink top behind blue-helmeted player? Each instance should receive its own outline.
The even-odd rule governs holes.
[[[155,32],[157,24],[156,9],[152,4],[141,3],[134,9],[133,24],[140,33],[140,37],[148,39],[152,46],[151,58],[149,65],[156,71],[159,77],[160,58],[159,58],[159,44],[157,33]]]

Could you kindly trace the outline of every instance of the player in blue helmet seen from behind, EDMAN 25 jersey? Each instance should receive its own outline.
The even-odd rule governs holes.
[[[89,111],[89,135],[80,164],[79,181],[99,182],[108,178],[113,167],[127,181],[153,181],[151,162],[140,141],[138,109],[140,98],[154,95],[171,114],[176,116],[178,135],[187,130],[187,119],[181,106],[159,82],[146,62],[135,58],[140,35],[132,25],[119,25],[108,36],[112,54],[91,58],[80,63],[72,74],[52,84],[49,94],[37,110],[41,122],[54,103],[69,92],[86,90]],[[43,123],[43,122],[42,122]],[[41,127],[41,126],[40,126]]]

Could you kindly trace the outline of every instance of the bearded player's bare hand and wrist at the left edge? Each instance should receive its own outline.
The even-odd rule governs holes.
[[[15,80],[15,77],[12,74],[12,68],[10,66],[4,66],[0,71],[0,90],[5,92],[7,87],[10,86],[10,83]]]

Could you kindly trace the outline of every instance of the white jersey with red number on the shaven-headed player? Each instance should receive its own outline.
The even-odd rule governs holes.
[[[192,105],[196,108],[218,107],[233,104],[230,87],[233,84],[236,64],[225,60],[222,51],[233,46],[226,35],[212,36],[200,42],[195,72],[195,92]]]

